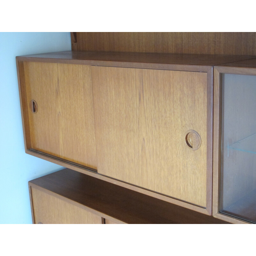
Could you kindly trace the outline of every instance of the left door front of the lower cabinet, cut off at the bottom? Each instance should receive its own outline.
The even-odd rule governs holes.
[[[35,224],[101,224],[101,217],[31,188]]]

